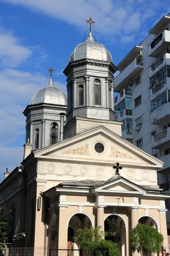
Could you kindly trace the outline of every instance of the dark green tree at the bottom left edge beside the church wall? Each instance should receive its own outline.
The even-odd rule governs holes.
[[[4,243],[7,239],[6,225],[8,224],[8,221],[5,220],[5,216],[8,214],[10,214],[10,212],[1,213],[1,216],[0,216],[0,250],[5,248]]]

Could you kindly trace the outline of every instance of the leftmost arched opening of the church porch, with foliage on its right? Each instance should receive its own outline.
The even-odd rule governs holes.
[[[83,213],[74,214],[68,222],[68,249],[80,249],[79,241],[74,241],[73,237],[76,235],[77,228],[91,227],[92,223],[90,218]],[[68,251],[69,256],[79,256],[78,251]]]

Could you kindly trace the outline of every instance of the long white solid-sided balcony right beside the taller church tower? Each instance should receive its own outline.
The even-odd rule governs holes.
[[[116,78],[114,79],[114,91],[123,90],[130,80],[143,69],[143,61],[134,59]]]

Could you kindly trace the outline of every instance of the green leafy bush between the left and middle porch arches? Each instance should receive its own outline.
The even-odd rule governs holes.
[[[82,249],[93,254],[94,249],[105,249],[108,247],[109,256],[121,256],[119,245],[111,240],[105,240],[105,236],[115,236],[116,232],[107,233],[101,230],[101,227],[77,228],[74,240],[79,240]],[[101,251],[96,250],[96,256],[101,256]]]

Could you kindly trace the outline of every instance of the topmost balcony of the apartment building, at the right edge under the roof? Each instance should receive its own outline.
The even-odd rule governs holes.
[[[157,57],[170,45],[170,31],[164,30],[151,44],[148,51],[150,57]]]

